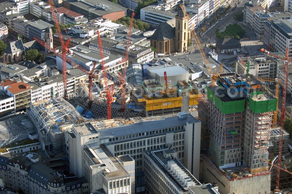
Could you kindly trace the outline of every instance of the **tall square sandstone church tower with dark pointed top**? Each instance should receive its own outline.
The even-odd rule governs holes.
[[[184,5],[184,1],[180,1],[180,4]],[[179,5],[177,10],[178,15],[175,16],[175,50],[184,52],[187,50],[187,40],[190,37],[190,32],[188,31],[187,16]]]

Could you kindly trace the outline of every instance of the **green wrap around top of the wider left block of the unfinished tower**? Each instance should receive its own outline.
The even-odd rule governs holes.
[[[235,112],[244,112],[245,99],[238,101],[223,102],[207,87],[207,97],[211,102],[215,98],[215,106],[222,112],[222,114],[231,114]]]

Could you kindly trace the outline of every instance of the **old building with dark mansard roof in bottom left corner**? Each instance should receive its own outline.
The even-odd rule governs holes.
[[[27,154],[1,154],[0,177],[5,188],[24,193],[81,194],[82,181],[73,176],[61,175]]]

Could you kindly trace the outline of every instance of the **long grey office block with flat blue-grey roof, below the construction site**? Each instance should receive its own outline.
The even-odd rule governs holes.
[[[129,122],[114,120],[115,124],[109,128],[108,122],[111,121],[73,126],[72,132],[65,137],[69,139],[70,153],[74,153],[69,159],[70,171],[78,177],[86,176],[84,149],[93,143],[100,147],[105,146],[118,159],[120,155],[130,155],[135,160],[135,173],[143,171],[143,151],[172,146],[177,151],[177,160],[184,164],[191,174],[198,177],[197,148],[200,146],[201,122],[186,113],[179,115],[165,119],[137,118],[130,119]]]

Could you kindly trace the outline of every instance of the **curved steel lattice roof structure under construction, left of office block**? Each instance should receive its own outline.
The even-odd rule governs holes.
[[[31,103],[29,115],[39,130],[39,140],[55,154],[62,151],[63,132],[68,126],[89,121],[82,117],[73,105],[60,97]]]

